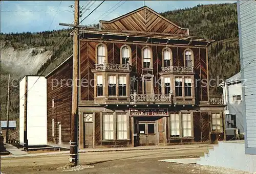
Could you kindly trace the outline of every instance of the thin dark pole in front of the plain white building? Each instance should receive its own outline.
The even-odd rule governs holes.
[[[28,151],[27,103],[28,103],[28,76],[25,76],[25,95],[24,95],[24,150],[25,151]]]

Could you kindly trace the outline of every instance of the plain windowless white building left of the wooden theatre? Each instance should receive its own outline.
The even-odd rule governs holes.
[[[27,91],[25,84],[27,80]],[[27,93],[27,139],[29,146],[47,145],[47,83],[44,77],[25,76],[19,82],[19,142],[24,144]]]

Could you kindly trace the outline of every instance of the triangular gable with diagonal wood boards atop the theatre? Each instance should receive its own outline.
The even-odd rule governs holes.
[[[189,35],[154,10],[144,6],[110,21],[100,21],[101,29]]]

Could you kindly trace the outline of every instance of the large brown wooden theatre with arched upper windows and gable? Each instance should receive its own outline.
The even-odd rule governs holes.
[[[146,6],[81,28],[79,148],[223,140],[223,99],[209,96],[212,42]],[[72,56],[46,78],[48,142],[68,145]]]

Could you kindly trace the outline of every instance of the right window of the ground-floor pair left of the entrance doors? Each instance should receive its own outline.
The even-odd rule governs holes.
[[[117,139],[127,139],[126,114],[117,114]]]

